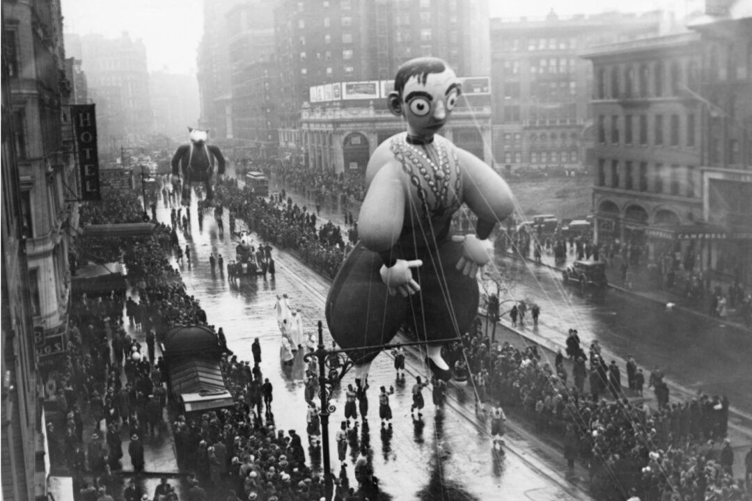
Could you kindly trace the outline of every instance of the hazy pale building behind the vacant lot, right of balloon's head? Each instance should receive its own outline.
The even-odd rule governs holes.
[[[661,14],[491,20],[493,152],[505,171],[587,165],[593,71],[580,53],[659,34]]]

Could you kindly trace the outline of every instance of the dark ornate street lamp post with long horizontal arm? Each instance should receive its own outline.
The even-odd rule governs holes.
[[[329,464],[329,416],[332,415],[337,408],[332,405],[332,390],[342,377],[347,373],[350,367],[353,367],[353,362],[350,361],[346,355],[353,352],[363,352],[362,348],[354,349],[332,349],[328,350],[324,347],[323,337],[323,323],[318,322],[319,330],[319,345],[314,352],[307,353],[303,360],[308,362],[312,357],[318,359],[319,365],[319,398],[321,403],[321,411],[319,413],[321,417],[321,442],[323,442],[323,470],[324,470],[324,499],[329,501],[332,499],[332,489],[334,484],[332,482],[332,469]],[[447,340],[446,343],[453,343],[461,341],[459,338],[453,340]],[[381,346],[369,346],[369,351],[377,351],[383,349],[397,348],[398,346],[419,346],[427,344],[426,341],[416,341],[414,343],[395,343]],[[328,370],[327,370],[328,369]]]

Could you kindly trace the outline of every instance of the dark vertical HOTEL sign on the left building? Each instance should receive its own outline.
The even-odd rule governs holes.
[[[71,106],[78,149],[78,172],[81,200],[101,200],[99,194],[99,154],[96,146],[96,115],[94,104]]]

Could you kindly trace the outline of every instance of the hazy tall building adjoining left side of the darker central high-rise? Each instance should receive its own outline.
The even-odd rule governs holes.
[[[279,74],[274,59],[274,4],[254,0],[227,14],[232,62],[232,137],[238,156],[277,156]]]

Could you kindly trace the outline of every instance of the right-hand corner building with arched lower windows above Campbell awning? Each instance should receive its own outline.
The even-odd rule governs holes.
[[[749,282],[752,19],[588,51],[596,239]],[[711,276],[711,275],[706,275]]]

